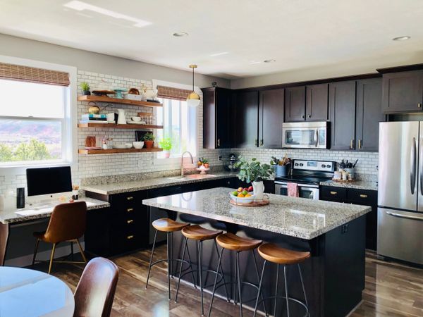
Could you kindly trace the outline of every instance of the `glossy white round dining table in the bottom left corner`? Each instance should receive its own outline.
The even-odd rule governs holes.
[[[75,302],[65,282],[27,268],[0,267],[1,317],[71,317]]]

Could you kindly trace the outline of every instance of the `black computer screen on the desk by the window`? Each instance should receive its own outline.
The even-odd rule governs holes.
[[[28,168],[28,196],[72,191],[71,167]]]

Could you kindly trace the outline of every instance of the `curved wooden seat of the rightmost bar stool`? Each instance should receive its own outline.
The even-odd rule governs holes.
[[[298,264],[310,257],[310,252],[284,249],[273,243],[262,244],[257,250],[263,259],[278,264]]]

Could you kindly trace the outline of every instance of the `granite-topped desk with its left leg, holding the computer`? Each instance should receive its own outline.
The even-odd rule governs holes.
[[[101,201],[84,197],[79,201],[87,202],[87,210],[100,209],[109,207],[107,201]],[[59,201],[51,201],[46,204],[37,204],[35,207],[26,206],[24,209],[16,209],[16,206],[5,206],[4,210],[0,211],[0,244],[8,242],[8,236],[11,225],[18,225],[21,223],[30,223],[37,219],[49,218],[54,206],[61,204]],[[0,247],[0,266],[4,263],[5,255]],[[1,316],[1,315],[0,315]]]

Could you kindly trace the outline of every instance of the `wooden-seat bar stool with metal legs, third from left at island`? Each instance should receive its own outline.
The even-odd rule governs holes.
[[[233,233],[224,233],[223,235],[219,235],[216,237],[216,242],[221,246],[221,251],[219,254],[219,261],[217,263],[217,268],[221,266],[221,259],[223,255],[223,250],[227,249],[230,251],[236,251],[236,260],[235,260],[235,299],[234,304],[236,304],[236,290],[238,287],[238,297],[240,299],[240,316],[243,317],[243,302],[250,302],[255,299],[249,299],[247,301],[243,301],[242,295],[241,295],[241,285],[250,285],[252,287],[255,287],[257,289],[257,296],[260,296],[263,298],[262,294],[260,294],[259,287],[253,283],[241,281],[240,279],[240,252],[242,251],[252,251],[252,255],[254,257],[254,263],[255,263],[255,271],[257,274],[257,280],[259,281],[259,269],[257,268],[257,259],[255,256],[255,249],[259,247],[260,244],[262,244],[262,240],[252,240],[246,237],[239,237],[238,235],[234,235]],[[223,286],[219,285],[216,287],[217,283],[217,275],[214,279],[214,287],[213,287],[213,293],[212,293],[212,302],[210,303],[210,309],[209,309],[209,315],[212,313],[212,306],[213,306],[213,300],[214,300],[214,293],[216,292],[216,289]],[[264,305],[264,311],[266,312],[266,306]],[[267,315],[267,313],[266,313]]]

